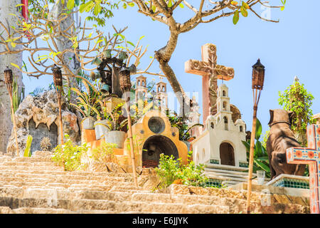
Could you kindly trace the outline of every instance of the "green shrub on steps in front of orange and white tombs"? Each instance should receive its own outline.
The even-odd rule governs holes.
[[[206,186],[208,178],[203,175],[204,165],[195,165],[191,160],[188,160],[188,165],[181,165],[180,162],[181,158],[175,160],[173,155],[160,155],[159,167],[155,169],[161,180],[160,187],[168,187],[177,180],[183,185]]]

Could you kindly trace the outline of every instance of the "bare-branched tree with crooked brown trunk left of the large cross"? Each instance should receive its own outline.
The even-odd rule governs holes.
[[[265,7],[279,8],[283,10],[284,4],[286,3],[285,0],[281,0],[280,6],[269,6],[265,1],[260,0],[247,0],[240,2],[231,0],[132,0],[125,2],[128,5],[132,3],[135,4],[138,7],[138,12],[140,14],[149,16],[152,20],[159,21],[168,26],[170,32],[169,40],[167,41],[166,46],[155,51],[154,58],[159,62],[161,71],[164,73],[174,92],[177,94],[181,107],[183,106],[183,100],[186,101],[185,105],[188,107],[188,101],[190,98],[186,96],[186,93],[176,78],[174,70],[169,65],[169,61],[176,50],[178,37],[181,33],[191,31],[199,24],[208,24],[223,17],[233,16],[233,23],[237,24],[241,16],[247,17],[250,13],[264,21],[279,22],[263,18],[257,14],[255,6],[263,5]],[[192,11],[193,16],[186,19],[186,21],[179,22],[177,20],[178,8]]]

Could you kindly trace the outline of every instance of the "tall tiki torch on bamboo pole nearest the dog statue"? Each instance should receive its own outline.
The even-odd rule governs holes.
[[[252,187],[252,169],[253,155],[255,148],[255,128],[257,123],[257,105],[260,100],[260,93],[265,81],[265,66],[260,63],[260,59],[252,66],[252,93],[253,93],[253,121],[252,133],[250,139],[250,160],[249,160],[249,177],[247,179],[247,214],[250,213],[250,196]]]

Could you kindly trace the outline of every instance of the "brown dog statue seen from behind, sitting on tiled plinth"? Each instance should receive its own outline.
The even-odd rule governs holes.
[[[267,140],[271,179],[281,175],[304,175],[306,165],[287,163],[286,150],[301,147],[291,130],[293,112],[282,109],[270,110],[270,136]]]

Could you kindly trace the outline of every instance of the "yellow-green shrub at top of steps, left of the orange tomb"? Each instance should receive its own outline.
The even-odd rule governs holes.
[[[65,134],[65,139],[63,145],[58,145],[53,150],[53,162],[65,167],[65,171],[81,170],[83,168],[81,157],[83,154],[87,153],[89,147],[86,143],[83,145],[75,145],[67,134]]]

